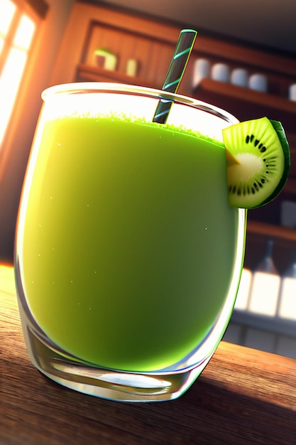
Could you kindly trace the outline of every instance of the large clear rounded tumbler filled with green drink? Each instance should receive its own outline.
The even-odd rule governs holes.
[[[245,245],[221,130],[237,120],[131,85],[50,87],[18,213],[16,286],[38,370],[122,401],[175,399],[229,323]],[[166,124],[153,121],[170,101]]]

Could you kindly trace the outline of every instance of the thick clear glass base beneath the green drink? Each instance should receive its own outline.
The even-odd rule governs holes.
[[[121,402],[176,399],[192,385],[210,359],[175,373],[122,372],[65,357],[45,344],[28,324],[23,323],[23,333],[33,365],[47,377],[72,390]]]

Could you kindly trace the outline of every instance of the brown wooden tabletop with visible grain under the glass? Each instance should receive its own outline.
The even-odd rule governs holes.
[[[0,266],[0,444],[296,444],[296,360],[221,342],[179,400],[110,402],[57,385],[23,343]]]

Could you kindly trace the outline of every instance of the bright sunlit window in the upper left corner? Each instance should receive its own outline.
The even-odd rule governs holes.
[[[0,147],[16,102],[38,19],[22,0],[0,0]]]

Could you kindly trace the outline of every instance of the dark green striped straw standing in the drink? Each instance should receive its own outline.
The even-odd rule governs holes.
[[[170,67],[168,68],[168,73],[163,84],[164,91],[177,92],[196,37],[197,31],[194,31],[193,29],[182,29],[180,32],[175,53],[172,56]],[[153,122],[165,124],[171,106],[171,100],[160,100],[160,102],[158,102],[158,107],[155,110]]]

